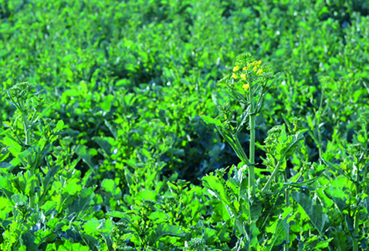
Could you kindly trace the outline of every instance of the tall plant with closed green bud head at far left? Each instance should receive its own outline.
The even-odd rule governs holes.
[[[17,110],[13,119],[4,123],[9,128],[6,130],[0,128],[0,134],[4,135],[2,143],[15,157],[9,164],[3,165],[9,167],[10,171],[14,167],[24,170],[26,183],[24,189],[20,190],[30,198],[29,206],[31,209],[35,209],[37,203],[43,205],[43,199],[50,188],[49,183],[47,183],[43,191],[40,189],[42,182],[38,178],[40,171],[38,167],[64,126],[63,121],[55,124],[54,121],[42,119],[46,102],[39,93],[35,92],[35,89],[35,86],[25,82],[16,84],[6,91],[9,97],[8,102],[14,105]],[[46,178],[46,181],[50,181],[51,178]],[[12,201],[8,190],[4,187],[1,189],[8,200]]]

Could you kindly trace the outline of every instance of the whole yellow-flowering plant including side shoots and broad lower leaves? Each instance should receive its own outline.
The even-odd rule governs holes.
[[[272,171],[266,178],[263,175],[255,176],[255,127],[256,116],[262,110],[265,94],[276,81],[277,76],[267,66],[262,66],[261,61],[254,60],[250,54],[241,54],[236,58],[233,72],[219,81],[225,87],[227,95],[238,101],[244,110],[237,118],[233,117],[233,110],[229,103],[219,108],[221,114],[212,119],[202,116],[206,123],[216,126],[219,133],[232,146],[237,156],[241,159],[241,165],[231,167],[228,172],[228,180],[224,181],[221,170],[216,175],[208,175],[203,178],[203,184],[209,192],[220,199],[226,207],[229,218],[233,218],[234,226],[241,234],[237,247],[258,248],[260,245],[268,245],[270,249],[275,245],[282,245],[285,250],[289,246],[289,221],[291,217],[289,189],[285,187],[289,180],[286,162],[304,139],[302,122],[294,119],[289,123],[286,118],[287,129],[284,125],[275,126],[269,130],[269,136],[265,139],[265,145],[257,143],[263,149],[267,158],[264,165]],[[249,156],[240,144],[238,134],[248,124],[249,129]],[[248,180],[245,175],[247,170]],[[265,169],[263,169],[265,170]],[[260,170],[257,170],[260,172]],[[283,182],[279,182],[279,173],[283,173]],[[293,181],[297,181],[294,179]],[[256,183],[257,181],[257,183]],[[262,184],[266,181],[265,184]],[[276,184],[273,189],[271,185]],[[258,185],[261,185],[260,187]],[[270,191],[271,190],[271,191]],[[284,194],[285,203],[280,203]],[[261,199],[263,198],[263,199]],[[260,205],[266,206],[263,208]],[[267,209],[268,208],[268,209]],[[263,212],[261,213],[260,210]],[[281,218],[275,217],[276,213]],[[268,221],[275,219],[275,224]],[[259,223],[258,221],[263,223]],[[272,227],[275,233],[270,231]],[[271,234],[269,240],[262,237],[258,240],[261,231],[268,228]],[[264,239],[264,242],[260,242]],[[278,243],[278,244],[277,244]]]

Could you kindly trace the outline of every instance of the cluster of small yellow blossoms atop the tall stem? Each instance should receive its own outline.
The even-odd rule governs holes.
[[[238,77],[240,77],[243,81],[246,83],[242,85],[242,88],[247,91],[250,87],[249,81],[248,81],[248,75],[250,75],[252,72],[254,72],[256,75],[260,75],[263,72],[263,69],[260,67],[261,60],[259,61],[253,61],[253,62],[246,62],[244,64],[243,62],[236,63],[236,66],[233,68],[233,73],[231,78],[236,80]],[[240,69],[242,68],[242,71],[240,72]],[[251,71],[252,69],[252,71]]]

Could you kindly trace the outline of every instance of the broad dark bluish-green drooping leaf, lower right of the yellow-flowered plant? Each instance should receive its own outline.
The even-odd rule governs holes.
[[[319,234],[323,236],[325,226],[328,224],[329,219],[328,215],[323,213],[322,206],[320,204],[313,205],[313,200],[304,193],[292,191],[291,196],[292,199],[304,209],[313,226],[319,231]]]

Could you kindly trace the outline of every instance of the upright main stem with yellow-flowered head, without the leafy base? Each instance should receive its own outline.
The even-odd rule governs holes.
[[[247,112],[248,129],[250,130],[249,157],[239,157],[248,167],[249,198],[256,194],[254,171],[256,116],[262,109],[265,94],[275,80],[275,75],[269,67],[263,66],[261,60],[254,60],[249,53],[246,53],[241,54],[236,58],[232,74],[219,81],[219,84],[227,87],[225,91],[232,99],[239,101],[245,106],[244,113]],[[237,142],[237,133],[240,132],[246,123],[239,123],[240,120],[238,120],[236,126],[232,126],[235,121],[231,121],[229,119],[231,116],[224,112],[222,113],[222,116],[224,116],[223,118],[226,118],[224,123],[228,126],[229,132],[232,135],[232,138],[234,138],[234,141]],[[241,146],[237,146],[237,148],[239,147]],[[244,152],[240,149],[235,151],[236,153]]]

